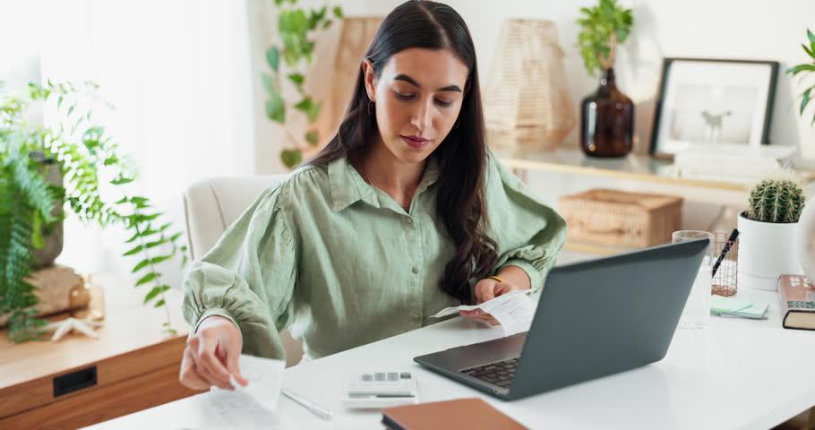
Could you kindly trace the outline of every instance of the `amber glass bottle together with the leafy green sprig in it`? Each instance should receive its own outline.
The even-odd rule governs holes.
[[[589,75],[600,73],[600,86],[580,105],[580,147],[591,157],[624,157],[633,148],[634,103],[617,88],[614,61],[634,24],[631,9],[599,0],[580,13],[580,55]]]

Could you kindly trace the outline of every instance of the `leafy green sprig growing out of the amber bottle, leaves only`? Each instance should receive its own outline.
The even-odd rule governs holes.
[[[586,70],[592,77],[614,65],[617,45],[631,33],[634,19],[631,9],[623,9],[617,0],[600,0],[594,7],[581,7],[578,47]]]

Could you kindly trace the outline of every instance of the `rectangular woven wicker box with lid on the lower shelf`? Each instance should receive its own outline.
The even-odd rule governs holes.
[[[559,211],[571,241],[646,247],[670,242],[681,229],[682,198],[593,189],[563,196]]]

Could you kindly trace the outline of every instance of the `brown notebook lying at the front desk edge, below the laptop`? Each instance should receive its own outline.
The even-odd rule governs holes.
[[[382,409],[382,424],[390,430],[515,430],[526,429],[484,400],[458,399]]]

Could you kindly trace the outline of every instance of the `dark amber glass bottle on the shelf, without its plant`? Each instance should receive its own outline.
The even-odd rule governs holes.
[[[634,103],[617,89],[614,69],[605,69],[600,87],[580,107],[580,148],[592,157],[624,157],[633,135]]]

